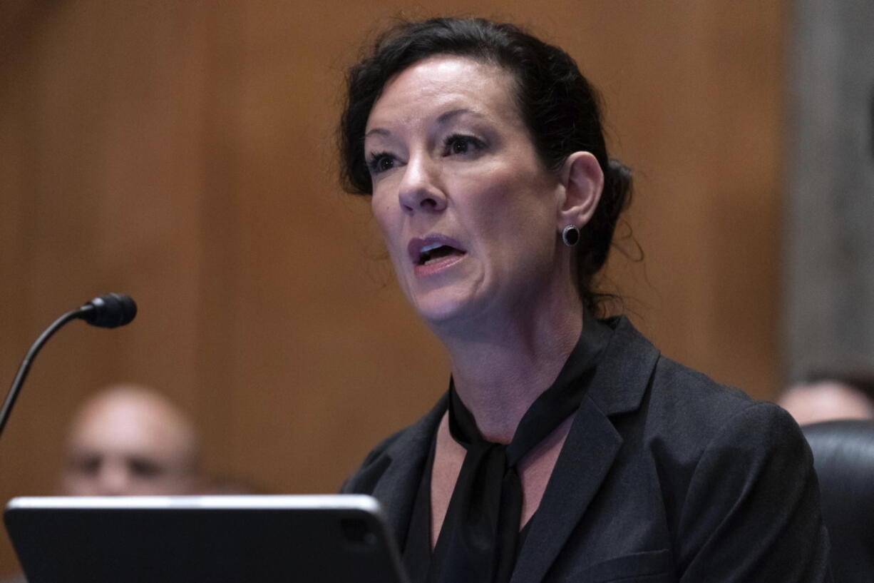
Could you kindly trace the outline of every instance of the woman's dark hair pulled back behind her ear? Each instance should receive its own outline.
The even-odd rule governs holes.
[[[577,64],[557,46],[514,25],[482,18],[432,18],[401,23],[378,37],[369,56],[347,75],[339,146],[344,188],[371,194],[364,132],[373,104],[392,76],[436,55],[466,57],[502,67],[515,79],[520,115],[542,163],[558,171],[575,151],[588,151],[604,172],[604,191],[592,219],[581,229],[577,251],[579,293],[588,309],[600,295],[594,275],[607,262],[616,223],[631,197],[631,172],[607,156],[600,99]]]

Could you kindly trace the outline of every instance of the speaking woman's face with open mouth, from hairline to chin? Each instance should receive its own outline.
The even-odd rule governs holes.
[[[524,313],[555,271],[562,189],[512,88],[501,68],[438,56],[393,77],[371,110],[373,214],[430,325]]]

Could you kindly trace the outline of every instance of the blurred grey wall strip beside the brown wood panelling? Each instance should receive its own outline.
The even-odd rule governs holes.
[[[874,369],[874,2],[797,0],[790,39],[787,374]]]

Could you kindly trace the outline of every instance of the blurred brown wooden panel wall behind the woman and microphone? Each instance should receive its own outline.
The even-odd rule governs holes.
[[[56,315],[128,292],[115,331],[45,348],[0,441],[0,499],[55,488],[66,420],[149,383],[208,465],[273,492],[335,490],[445,389],[366,201],[336,183],[343,69],[393,15],[469,3],[0,6],[0,383]],[[769,397],[779,382],[784,2],[488,0],[602,89],[637,171],[646,259],[611,279],[663,351]],[[0,541],[0,575],[15,569]]]

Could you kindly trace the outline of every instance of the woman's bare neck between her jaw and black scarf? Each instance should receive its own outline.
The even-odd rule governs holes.
[[[549,389],[579,340],[582,305],[575,292],[509,318],[468,323],[475,334],[445,334],[455,390],[484,439],[510,443],[531,404]],[[520,317],[519,314],[524,314]]]

